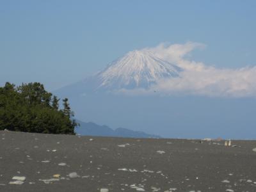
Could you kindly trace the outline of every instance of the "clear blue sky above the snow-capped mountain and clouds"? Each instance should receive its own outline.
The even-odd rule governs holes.
[[[256,1],[0,1],[0,85],[49,90],[125,52],[200,42],[189,57],[218,68],[255,66]]]

